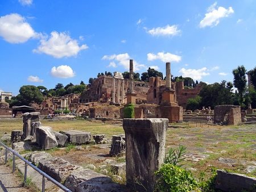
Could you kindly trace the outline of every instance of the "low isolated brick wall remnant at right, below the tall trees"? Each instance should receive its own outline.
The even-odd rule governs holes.
[[[226,119],[226,115],[228,115]],[[214,107],[214,123],[227,122],[230,125],[241,123],[241,107],[234,105],[218,105]]]

